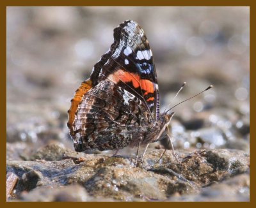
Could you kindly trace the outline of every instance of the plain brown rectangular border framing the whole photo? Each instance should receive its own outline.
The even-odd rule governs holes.
[[[1,47],[1,96],[3,98],[3,101],[1,101],[1,132],[3,132],[3,137],[0,140],[3,151],[0,151],[0,158],[1,158],[1,171],[0,171],[0,179],[1,179],[1,188],[0,188],[0,204],[3,205],[3,207],[17,207],[17,206],[34,206],[33,202],[6,202],[6,189],[5,189],[5,184],[6,184],[6,6],[250,6],[250,69],[255,69],[255,59],[252,57],[255,56],[255,26],[256,26],[256,18],[255,18],[255,8],[256,6],[253,4],[253,1],[249,0],[233,0],[233,1],[228,1],[228,0],[223,0],[223,1],[202,1],[202,0],[194,0],[194,1],[164,1],[164,0],[158,0],[158,1],[145,1],[145,0],[140,0],[140,1],[116,1],[116,0],[109,0],[109,1],[82,1],[82,0],[73,0],[73,1],[67,1],[67,0],[38,0],[38,1],[31,1],[31,0],[24,0],[24,1],[18,1],[18,0],[1,0],[0,1],[0,26],[1,26],[1,37],[0,37],[0,47]],[[5,58],[4,58],[5,57]],[[250,94],[250,106],[252,106],[252,115],[255,115],[255,97],[253,89],[255,89],[256,82],[252,82],[255,78],[255,70],[250,70],[250,91],[252,92]],[[2,114],[3,113],[3,114]],[[250,117],[250,123],[251,125],[255,124],[255,116]],[[251,148],[255,147],[255,140],[254,136],[255,135],[255,130],[254,128],[250,128],[250,137],[251,139]],[[255,151],[256,152],[256,151]],[[255,159],[255,152],[251,151],[251,157],[252,160]],[[205,206],[210,206],[210,207],[215,207],[215,206],[227,206],[230,205],[232,207],[241,207],[241,206],[255,206],[255,165],[252,163],[252,168],[251,168],[252,174],[250,174],[250,181],[251,181],[251,188],[250,188],[250,202],[200,202],[200,203],[193,203],[193,202],[159,202],[161,203],[160,205],[164,206],[184,206],[184,207],[190,207],[190,206],[195,206],[195,207],[205,207]],[[4,171],[5,170],[5,171]],[[3,185],[4,184],[4,185]],[[35,203],[35,202],[34,202]],[[37,202],[36,206],[43,207],[45,206],[45,202]],[[49,202],[47,205],[50,206],[55,206],[56,202]],[[70,207],[70,203],[74,202],[60,202],[61,206],[67,206]],[[81,203],[81,202],[77,202]],[[147,205],[147,206],[155,206],[156,204],[154,203],[148,203],[148,202],[140,202],[143,204],[138,204],[139,202],[131,202],[131,203],[125,203],[125,202],[87,202],[90,204],[83,204],[83,205],[92,205],[93,207],[95,206],[109,206],[109,207],[116,207],[116,206],[125,206],[128,207],[130,205]],[[122,204],[120,204],[122,203]],[[145,204],[147,203],[147,204]],[[171,203],[171,204],[170,204]],[[175,204],[172,204],[175,203]],[[177,204],[179,203],[179,205]],[[243,204],[241,204],[243,203]],[[74,204],[76,206],[80,206],[81,204]]]

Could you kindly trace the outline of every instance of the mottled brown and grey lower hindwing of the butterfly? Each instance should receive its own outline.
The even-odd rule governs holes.
[[[103,80],[84,94],[77,108],[72,124],[74,147],[76,151],[121,149],[142,138],[141,128],[148,125],[148,118],[150,115],[140,100],[113,82]]]

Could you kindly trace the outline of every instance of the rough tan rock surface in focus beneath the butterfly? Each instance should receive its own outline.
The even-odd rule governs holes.
[[[127,156],[111,157],[106,155],[79,154],[83,157],[75,163],[71,150],[65,150],[58,145],[46,145],[34,154],[42,156],[49,149],[65,154],[49,154],[47,160],[7,161],[7,171],[19,177],[15,188],[16,199],[33,201],[58,200],[118,200],[118,201],[150,201],[150,200],[181,200],[173,196],[203,195],[207,200],[208,192],[224,191],[227,186],[236,186],[234,193],[230,193],[230,200],[236,197],[240,189],[249,189],[248,175],[249,158],[243,151],[216,149],[198,151],[189,154],[180,152],[178,163],[172,151],[166,151],[159,164],[155,164],[163,150],[155,150],[145,155],[143,163],[134,167],[134,158]],[[70,155],[67,154],[69,152]],[[63,156],[63,155],[62,155]],[[32,158],[33,158],[32,157]],[[42,156],[44,158],[44,156]],[[58,160],[54,160],[54,159]],[[233,177],[241,177],[240,184]],[[223,186],[214,186],[215,182],[225,182]],[[68,190],[79,184],[77,195],[68,195]],[[67,186],[67,188],[61,188]],[[205,192],[205,186],[209,191]],[[51,191],[47,191],[47,190]],[[206,189],[207,190],[207,189]],[[63,197],[60,197],[63,195]],[[90,195],[90,197],[88,197]],[[171,198],[170,198],[171,197]],[[196,197],[191,200],[196,200]],[[201,196],[202,197],[202,196]],[[208,200],[211,200],[212,195]],[[189,198],[189,197],[188,197]],[[246,193],[243,193],[246,200]],[[218,200],[218,197],[212,198]],[[228,200],[228,199],[227,199]]]

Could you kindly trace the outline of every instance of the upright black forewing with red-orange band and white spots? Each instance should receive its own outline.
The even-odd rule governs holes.
[[[138,96],[156,118],[159,114],[158,86],[147,36],[136,22],[125,21],[114,29],[114,39],[100,64],[95,65],[91,78],[98,76],[98,83],[107,78]]]

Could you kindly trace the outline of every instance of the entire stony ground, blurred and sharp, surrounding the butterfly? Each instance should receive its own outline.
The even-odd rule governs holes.
[[[161,112],[214,85],[173,109],[181,163],[168,140],[138,167],[129,147],[74,151],[70,100],[127,19],[147,34]],[[7,8],[7,200],[250,200],[249,28],[246,7]]]

